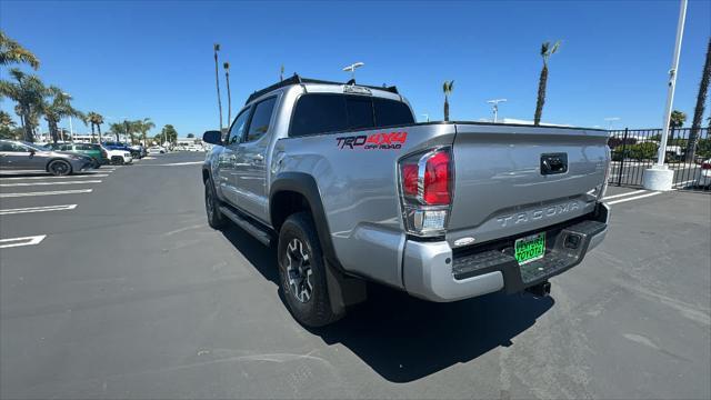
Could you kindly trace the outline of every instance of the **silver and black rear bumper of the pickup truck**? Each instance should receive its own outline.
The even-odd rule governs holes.
[[[550,227],[545,230],[545,256],[524,266],[513,257],[513,242],[531,232],[455,251],[447,241],[408,240],[402,271],[405,290],[438,302],[502,289],[522,291],[580,263],[604,239],[608,220],[609,208],[598,203],[590,214]],[[574,247],[571,239],[577,239]]]

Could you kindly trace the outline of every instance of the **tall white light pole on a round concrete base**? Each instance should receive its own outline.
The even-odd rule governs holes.
[[[687,19],[687,2],[681,0],[679,8],[679,22],[677,23],[677,42],[674,44],[674,54],[669,70],[669,82],[667,89],[667,106],[664,108],[664,119],[662,126],[662,140],[659,143],[659,152],[657,154],[657,164],[644,170],[643,186],[648,190],[671,190],[674,179],[674,171],[664,166],[664,156],[667,154],[667,138],[669,137],[669,120],[671,119],[671,109],[674,102],[674,89],[677,87],[677,71],[679,71],[679,54],[681,53],[681,39],[684,33],[684,21]]]

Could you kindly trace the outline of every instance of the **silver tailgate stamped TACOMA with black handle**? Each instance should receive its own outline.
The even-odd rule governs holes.
[[[607,142],[599,130],[457,124],[450,246],[592,212],[609,163]]]

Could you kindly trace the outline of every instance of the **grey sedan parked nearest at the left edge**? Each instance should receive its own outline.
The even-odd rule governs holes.
[[[92,168],[92,159],[82,154],[59,152],[20,140],[0,140],[0,170],[47,171],[66,176]]]

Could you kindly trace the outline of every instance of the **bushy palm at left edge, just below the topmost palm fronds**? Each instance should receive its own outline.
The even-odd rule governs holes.
[[[16,101],[16,112],[24,130],[24,140],[33,142],[33,129],[38,126],[39,108],[47,92],[44,83],[33,74],[27,74],[17,68],[10,70],[14,82],[0,80],[0,97]]]

